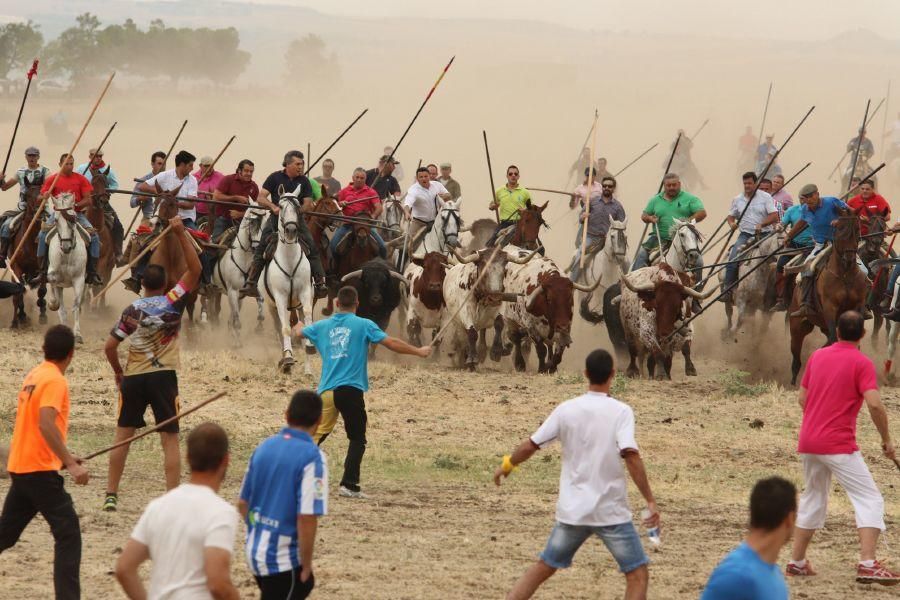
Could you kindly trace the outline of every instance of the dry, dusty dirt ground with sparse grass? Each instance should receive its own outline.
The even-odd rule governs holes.
[[[253,334],[248,327],[250,308],[245,310],[245,342],[239,349],[231,348],[222,331],[192,331],[180,373],[185,407],[217,391],[228,392],[188,417],[184,426],[214,420],[228,431],[232,467],[221,493],[229,500],[236,499],[253,448],[281,426],[290,394],[313,387],[316,380],[304,377],[300,364],[291,376],[277,373],[278,347],[271,339],[270,324],[261,335]],[[0,319],[6,322],[7,317],[4,308]],[[73,401],[69,445],[79,453],[112,439],[115,392],[102,344],[114,317],[112,312],[87,317],[85,343],[69,373]],[[785,344],[776,343],[786,356]],[[577,365],[583,349],[607,344],[602,328],[580,328],[567,364]],[[12,430],[15,390],[39,361],[39,345],[38,327],[0,330],[0,360],[6,365],[0,374],[0,386],[6,390],[0,401],[4,443]],[[800,422],[795,392],[763,376],[769,372],[766,366],[756,369],[756,379],[737,375],[742,353],[761,354],[752,345],[716,344],[715,351],[712,343],[709,346],[699,352],[697,378],[685,378],[676,358],[672,382],[620,379],[614,388],[616,397],[635,410],[638,442],[663,518],[663,547],[652,554],[654,598],[698,596],[710,570],[741,538],[754,481],[780,474],[800,484],[794,452]],[[730,348],[727,363],[720,360],[726,355],[723,348]],[[584,389],[577,367],[557,375],[511,376],[508,359],[488,364],[476,374],[431,362],[387,359],[380,350],[367,395],[370,425],[363,484],[371,500],[337,497],[346,441],[338,433],[325,444],[331,499],[316,543],[316,597],[502,597],[549,534],[560,454],[558,449],[540,452],[500,489],[491,475],[500,457],[536,429],[556,404]],[[318,359],[313,361],[313,372],[318,373]],[[530,367],[534,369],[533,364]],[[776,379],[783,380],[783,369],[774,369]],[[896,392],[888,388],[885,395],[896,422],[900,419]],[[756,420],[762,426],[751,427]],[[879,556],[896,559],[896,534],[890,527],[900,510],[894,487],[897,473],[879,457],[877,434],[865,414],[859,430],[863,453],[887,502],[889,530]],[[132,449],[120,510],[112,514],[100,511],[106,468],[106,457],[100,457],[89,465],[88,486],[68,485],[84,536],[83,590],[92,598],[121,596],[112,574],[116,556],[147,502],[164,492],[161,453],[154,437]],[[7,489],[8,480],[0,481],[0,494]],[[630,494],[637,514],[642,503],[633,486]],[[242,526],[235,541],[233,577],[242,596],[254,597],[243,536]],[[36,519],[19,544],[0,556],[4,582],[0,597],[48,597],[52,548],[46,524]],[[857,558],[853,515],[840,491],[833,495],[827,529],[814,541],[810,556],[822,575],[791,582],[795,597],[890,593],[853,581]],[[537,597],[615,597],[623,589],[612,558],[600,543],[590,542],[575,565],[552,578]]]

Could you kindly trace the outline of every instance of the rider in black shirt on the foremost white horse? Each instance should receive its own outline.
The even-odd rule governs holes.
[[[269,240],[278,231],[278,213],[281,210],[278,202],[281,200],[282,194],[295,195],[300,200],[301,210],[308,210],[313,202],[312,184],[303,175],[305,171],[303,153],[299,150],[291,150],[284,155],[284,161],[281,164],[284,169],[269,175],[263,182],[263,189],[259,192],[258,202],[260,206],[268,208],[272,211],[272,214],[266,221],[262,231],[262,238],[253,253],[253,264],[250,267],[250,273],[247,275],[247,283],[241,288],[241,297],[259,297],[257,284],[263,267],[266,265],[265,255]],[[328,287],[325,285],[325,269],[322,267],[319,249],[312,239],[309,227],[306,226],[306,219],[300,219],[298,226],[298,235],[306,249],[306,258],[309,259],[310,269],[312,270],[316,298],[324,298],[328,295]]]

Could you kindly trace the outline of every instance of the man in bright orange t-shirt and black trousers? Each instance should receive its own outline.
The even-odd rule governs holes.
[[[74,350],[72,330],[65,325],[51,327],[44,335],[44,362],[22,383],[7,462],[12,485],[0,513],[0,552],[19,541],[37,513],[50,525],[57,599],[81,597],[81,526],[58,473],[65,467],[76,484],[88,482],[80,459],[66,448],[69,384],[65,372]]]

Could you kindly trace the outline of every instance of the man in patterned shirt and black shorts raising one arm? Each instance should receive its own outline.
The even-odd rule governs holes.
[[[144,273],[144,297],[132,302],[122,312],[118,323],[106,340],[106,359],[116,375],[119,388],[119,416],[114,442],[121,442],[138,427],[144,427],[147,406],[159,423],[178,413],[178,333],[184,313],[184,297],[197,288],[200,280],[200,259],[188,239],[181,217],[169,219],[174,235],[181,244],[187,261],[178,283],[166,291],[166,271],[150,265]],[[119,362],[119,344],[131,338],[125,369]],[[181,480],[181,457],[178,450],[178,421],[159,431],[163,447],[163,468],[166,489],[175,488]],[[114,511],[119,501],[119,483],[125,471],[129,445],[116,448],[109,455],[109,477],[103,510]]]

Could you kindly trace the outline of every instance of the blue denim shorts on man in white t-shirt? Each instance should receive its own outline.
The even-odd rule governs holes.
[[[554,569],[568,568],[572,566],[575,553],[591,534],[603,540],[623,573],[630,573],[650,563],[641,546],[641,537],[631,521],[606,526],[567,525],[557,521],[540,559]]]

